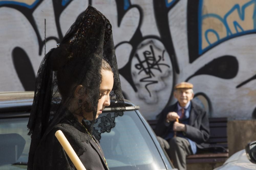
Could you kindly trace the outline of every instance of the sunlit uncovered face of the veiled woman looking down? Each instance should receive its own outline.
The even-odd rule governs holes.
[[[100,84],[101,98],[99,99],[99,102],[98,102],[97,114],[95,119],[97,119],[98,116],[102,113],[102,110],[105,108],[105,106],[110,105],[109,94],[114,85],[114,77],[113,77],[112,71],[102,70],[101,75],[102,75],[102,81]]]

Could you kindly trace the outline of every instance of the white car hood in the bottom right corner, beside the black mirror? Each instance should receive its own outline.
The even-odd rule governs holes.
[[[238,151],[230,156],[229,159],[220,167],[214,170],[247,170],[255,169],[256,164],[251,163],[247,156],[245,150]]]

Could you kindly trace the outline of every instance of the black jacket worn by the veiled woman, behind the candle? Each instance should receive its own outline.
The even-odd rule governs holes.
[[[57,130],[63,132],[86,169],[108,170],[99,141],[94,138],[100,149],[92,139],[86,142],[89,135],[72,113],[40,141],[34,157],[34,169],[76,169],[55,137]]]

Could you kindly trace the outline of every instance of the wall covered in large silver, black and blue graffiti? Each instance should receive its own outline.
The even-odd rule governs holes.
[[[45,51],[89,4],[112,23],[124,97],[146,119],[181,81],[211,117],[256,118],[256,0],[0,1],[0,91],[34,90]]]

